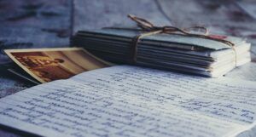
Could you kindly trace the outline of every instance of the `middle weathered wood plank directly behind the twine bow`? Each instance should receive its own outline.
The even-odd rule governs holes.
[[[156,25],[170,25],[154,0],[74,0],[74,31],[99,29],[105,26],[135,25],[127,14],[136,14]]]

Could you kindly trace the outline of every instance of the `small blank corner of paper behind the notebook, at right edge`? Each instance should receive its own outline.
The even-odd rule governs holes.
[[[236,67],[236,69],[227,73],[225,77],[256,81],[256,63],[250,62]]]

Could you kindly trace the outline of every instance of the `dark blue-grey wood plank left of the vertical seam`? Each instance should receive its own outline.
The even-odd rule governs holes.
[[[0,1],[0,48],[67,46],[71,4],[71,0]]]

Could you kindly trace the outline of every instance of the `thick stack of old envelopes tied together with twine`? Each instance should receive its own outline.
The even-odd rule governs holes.
[[[73,46],[83,47],[92,54],[113,63],[131,62],[133,37],[142,31],[101,29],[78,31],[71,38]],[[212,35],[231,43],[178,34],[155,34],[142,37],[137,43],[137,66],[181,71],[207,77],[219,77],[251,60],[251,44],[240,37]]]

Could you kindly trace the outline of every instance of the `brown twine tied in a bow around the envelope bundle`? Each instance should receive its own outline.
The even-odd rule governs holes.
[[[210,37],[208,36],[208,29],[204,26],[192,26],[189,28],[178,28],[175,26],[154,26],[153,23],[149,22],[148,20],[145,20],[143,18],[139,18],[135,15],[128,14],[128,17],[135,21],[137,23],[137,26],[140,28],[138,29],[132,29],[132,28],[116,28],[116,27],[108,27],[108,28],[113,28],[113,29],[126,29],[126,30],[138,30],[138,31],[144,31],[143,33],[135,36],[132,38],[131,42],[131,64],[135,64],[137,62],[137,43],[140,38],[142,37],[147,37],[150,35],[155,35],[155,34],[160,34],[160,33],[165,33],[165,34],[179,34],[183,35],[186,37],[201,37],[205,39],[210,39],[214,41],[218,41],[221,43],[225,43],[230,46],[231,49],[235,52],[235,57],[236,57],[236,49],[234,48],[235,44],[231,43],[230,41],[216,38],[216,37]],[[189,30],[201,30],[203,33],[202,34],[195,34],[189,32]],[[235,59],[235,66],[236,66],[236,59]]]

